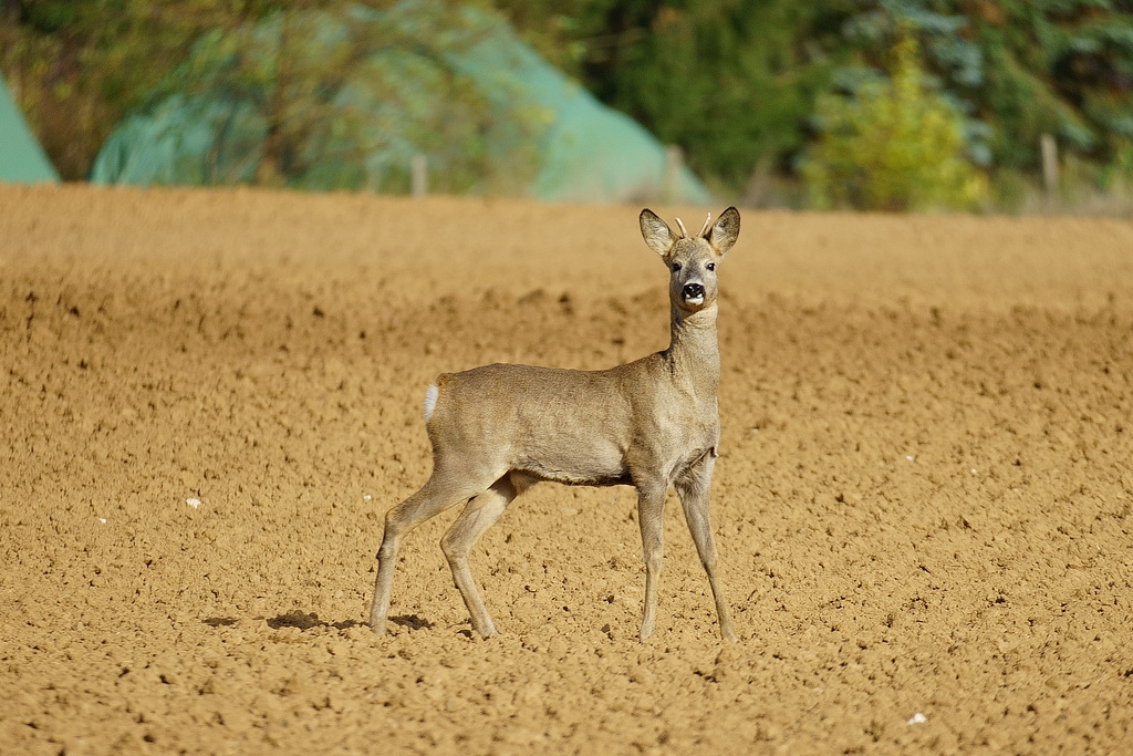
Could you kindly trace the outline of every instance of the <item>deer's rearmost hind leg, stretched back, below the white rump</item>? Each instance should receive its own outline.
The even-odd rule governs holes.
[[[377,551],[374,603],[369,611],[369,625],[374,632],[385,632],[385,617],[390,611],[390,593],[393,589],[393,569],[404,537],[425,520],[483,493],[491,484],[492,478],[478,481],[474,476],[434,466],[433,475],[417,493],[386,512],[382,546]]]

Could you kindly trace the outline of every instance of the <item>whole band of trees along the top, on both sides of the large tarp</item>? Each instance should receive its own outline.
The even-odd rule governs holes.
[[[605,103],[734,192],[798,175],[818,103],[888,78],[897,28],[969,161],[1033,172],[1039,137],[1099,175],[1133,154],[1133,0],[432,0],[501,12]],[[346,0],[0,0],[0,68],[60,172],[211,31]],[[390,2],[360,5],[385,8]],[[1108,175],[1108,173],[1107,173]]]

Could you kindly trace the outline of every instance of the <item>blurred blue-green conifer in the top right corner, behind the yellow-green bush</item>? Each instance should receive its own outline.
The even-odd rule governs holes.
[[[843,35],[878,71],[898,25],[930,77],[965,113],[972,158],[1033,170],[1039,137],[1109,162],[1133,137],[1133,3],[1110,0],[866,0]],[[853,69],[840,71],[853,76]]]

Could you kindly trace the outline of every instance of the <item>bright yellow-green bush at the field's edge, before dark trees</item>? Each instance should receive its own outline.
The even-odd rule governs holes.
[[[888,79],[819,99],[820,136],[802,164],[815,207],[969,210],[987,196],[964,156],[960,114],[930,92],[918,46],[901,34]]]

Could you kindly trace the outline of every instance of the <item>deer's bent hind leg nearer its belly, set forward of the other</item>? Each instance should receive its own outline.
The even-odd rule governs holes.
[[[477,538],[484,534],[503,515],[508,504],[518,496],[528,481],[517,473],[508,473],[493,483],[487,491],[469,501],[457,521],[441,540],[441,549],[449,560],[452,579],[465,600],[468,613],[472,619],[472,629],[482,637],[491,638],[496,634],[495,625],[488,614],[476,580],[468,568],[468,554]]]

